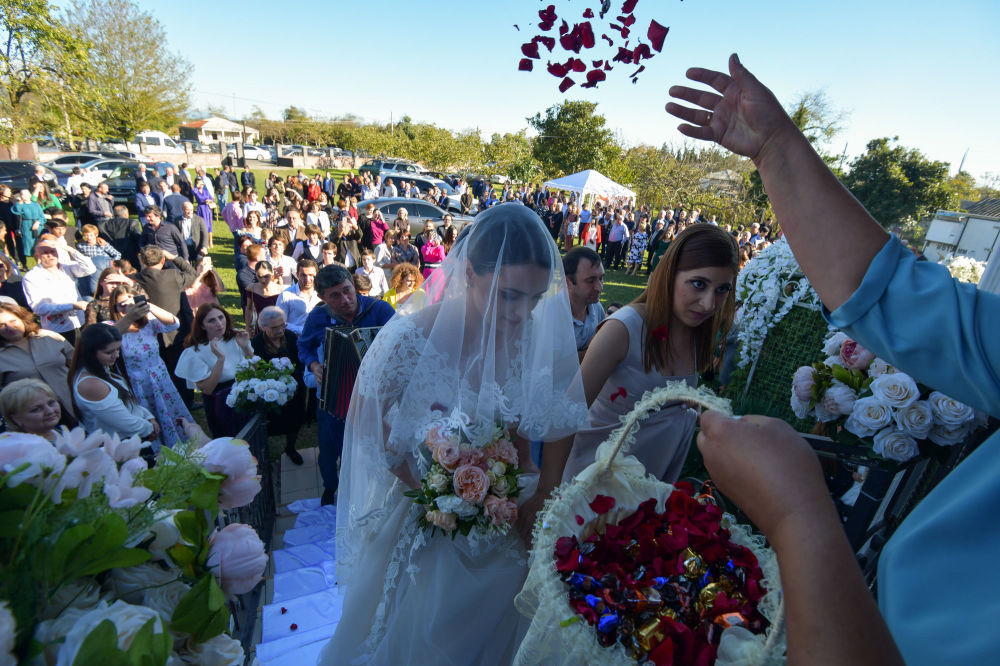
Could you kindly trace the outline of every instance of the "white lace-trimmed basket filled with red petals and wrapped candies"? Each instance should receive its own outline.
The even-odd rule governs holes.
[[[683,383],[647,392],[539,513],[515,600],[531,619],[515,664],[785,662],[778,563],[764,538],[710,492],[659,481],[627,455],[639,422],[678,400],[731,413]]]

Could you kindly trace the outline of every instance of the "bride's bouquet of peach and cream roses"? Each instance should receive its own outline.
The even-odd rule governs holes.
[[[517,518],[517,447],[502,426],[493,426],[486,446],[472,443],[461,425],[432,428],[424,442],[431,464],[420,488],[404,493],[427,507],[421,528],[468,536],[506,534]]]

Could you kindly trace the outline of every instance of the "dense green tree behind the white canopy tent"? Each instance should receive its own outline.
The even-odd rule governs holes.
[[[614,134],[605,127],[597,104],[566,100],[550,106],[545,115],[528,118],[535,128],[532,152],[549,176],[564,176],[583,169],[602,169],[621,155]]]

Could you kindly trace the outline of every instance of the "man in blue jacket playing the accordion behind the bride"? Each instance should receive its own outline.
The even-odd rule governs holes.
[[[331,326],[384,326],[396,313],[385,301],[358,295],[354,280],[343,266],[331,264],[316,274],[316,294],[323,302],[306,317],[299,337],[299,360],[323,386],[320,347]],[[345,414],[346,415],[346,414]],[[319,429],[319,471],[323,477],[323,504],[333,504],[337,493],[337,461],[344,448],[344,420],[316,409]]]

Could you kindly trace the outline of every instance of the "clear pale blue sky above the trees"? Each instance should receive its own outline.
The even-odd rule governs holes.
[[[966,171],[1000,173],[997,0],[639,0],[641,34],[651,18],[670,26],[663,52],[645,61],[636,85],[627,78],[634,68],[619,64],[596,90],[566,95],[544,61],[517,71],[520,44],[550,3],[570,24],[600,5],[139,0],[167,29],[170,49],[194,64],[194,106],[223,105],[237,116],[254,104],[270,117],[290,104],[380,122],[407,114],[479,128],[488,139],[563,99],[585,99],[629,145],[679,145],[685,139],[663,111],[667,89],[687,67],[724,68],[736,51],[783,102],[824,89],[850,113],[834,152],[846,145],[853,156],[870,139],[898,135],[952,172],[968,148]],[[604,45],[598,33],[588,55],[604,57]]]

